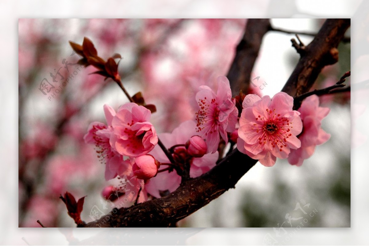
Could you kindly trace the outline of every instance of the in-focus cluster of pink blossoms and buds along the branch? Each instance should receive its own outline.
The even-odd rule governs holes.
[[[228,136],[237,142],[239,151],[267,167],[273,166],[277,157],[301,165],[316,145],[330,137],[321,129],[329,109],[319,107],[316,95],[304,100],[298,111],[293,110],[292,96],[284,92],[272,99],[243,96],[239,108],[228,79],[219,76],[217,82],[216,93],[200,86],[195,120],[183,122],[172,133],[156,134],[149,122],[151,112],[144,106],[125,103],[115,113],[104,105],[107,125],[91,123],[84,139],[96,146],[98,157],[106,164],[106,180],[118,176],[126,201],[143,202],[149,195],[159,198],[175,191],[186,169],[191,178],[206,173],[215,166],[220,142],[227,144]],[[168,153],[159,146],[159,139]],[[106,188],[104,195],[110,197],[113,191]]]

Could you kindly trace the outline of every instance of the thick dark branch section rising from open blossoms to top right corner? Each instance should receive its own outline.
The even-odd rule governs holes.
[[[291,96],[307,92],[324,66],[338,61],[338,44],[350,26],[350,19],[327,19],[314,40],[306,46],[282,91]]]

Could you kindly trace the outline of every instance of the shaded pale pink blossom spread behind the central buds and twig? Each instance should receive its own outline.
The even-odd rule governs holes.
[[[187,140],[193,135],[196,135],[196,123],[192,120],[188,120],[180,124],[172,133],[161,133],[159,137],[166,148],[170,148],[177,144],[185,144]],[[159,146],[155,146],[154,150],[150,152],[156,160],[161,163],[169,163],[168,158]],[[185,147],[177,147],[174,150],[173,158],[177,161],[188,161],[190,164],[190,177],[199,177],[201,174],[206,173],[215,166],[218,160],[219,153],[205,154],[203,157],[195,158],[187,153]],[[167,166],[162,165],[159,168],[163,170]],[[148,180],[145,184],[145,190],[154,197],[163,197],[173,191],[175,191],[181,182],[182,178],[176,173],[176,171],[164,171],[158,172],[158,174]]]

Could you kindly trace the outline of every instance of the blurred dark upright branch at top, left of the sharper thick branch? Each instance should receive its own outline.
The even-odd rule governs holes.
[[[249,19],[247,21],[244,36],[237,45],[234,60],[227,74],[232,95],[238,94],[240,89],[245,93],[248,91],[252,68],[258,57],[262,38],[269,27],[269,19]]]

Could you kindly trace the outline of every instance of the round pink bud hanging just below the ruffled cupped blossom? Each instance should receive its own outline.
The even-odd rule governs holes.
[[[158,173],[160,167],[159,161],[152,155],[139,156],[132,166],[133,174],[141,180],[148,180]]]

